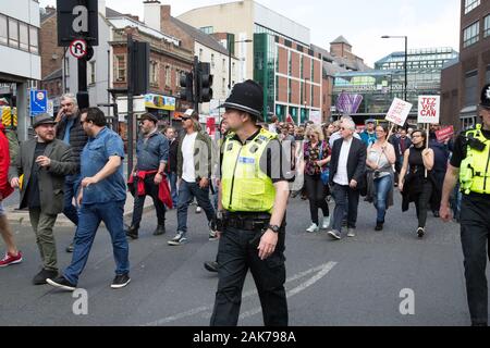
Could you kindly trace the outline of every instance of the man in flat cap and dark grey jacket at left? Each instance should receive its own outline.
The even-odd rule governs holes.
[[[57,248],[52,227],[63,211],[63,187],[66,175],[75,174],[78,165],[70,146],[54,138],[54,121],[49,114],[34,120],[35,139],[21,145],[16,164],[11,167],[10,183],[21,187],[21,209],[29,209],[30,225],[36,233],[42,270],[34,277],[34,285],[58,275]]]

